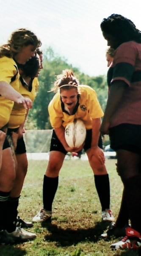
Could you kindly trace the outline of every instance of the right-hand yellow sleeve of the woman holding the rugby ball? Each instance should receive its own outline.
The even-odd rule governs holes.
[[[92,119],[103,117],[103,111],[97,99],[97,94],[91,87],[88,89],[88,111]]]

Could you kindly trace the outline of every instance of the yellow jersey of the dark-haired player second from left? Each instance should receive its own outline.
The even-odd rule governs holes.
[[[29,91],[28,86],[23,86],[21,81],[19,81],[19,93],[23,97],[30,98],[30,100],[32,100],[33,102],[39,88],[38,78],[33,79],[31,86],[31,91]],[[8,122],[8,128],[18,128],[19,125],[21,125],[25,121],[26,113],[27,110],[23,107],[23,105],[14,102],[14,106]]]

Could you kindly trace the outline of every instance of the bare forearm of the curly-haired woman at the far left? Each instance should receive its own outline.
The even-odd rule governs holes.
[[[20,93],[17,92],[10,84],[4,81],[0,81],[0,95],[15,102],[21,98]]]

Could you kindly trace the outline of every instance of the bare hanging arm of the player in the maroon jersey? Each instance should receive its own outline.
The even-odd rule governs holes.
[[[111,85],[103,120],[110,120],[122,100],[126,87],[127,84],[122,81],[115,81]]]

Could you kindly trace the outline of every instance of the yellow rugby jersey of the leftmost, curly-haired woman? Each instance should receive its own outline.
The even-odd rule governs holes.
[[[13,82],[11,82],[12,78],[15,79]],[[0,58],[0,82],[1,81],[9,83],[9,86],[19,91],[19,72],[13,58],[6,56]],[[0,128],[8,123],[13,105],[13,101],[0,96]]]

